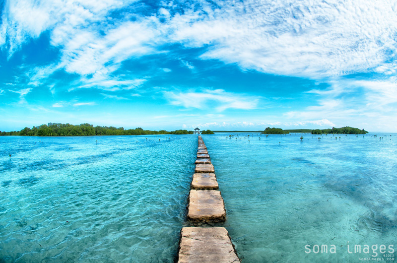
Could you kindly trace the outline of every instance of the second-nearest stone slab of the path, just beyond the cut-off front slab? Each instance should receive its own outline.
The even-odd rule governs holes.
[[[191,190],[188,219],[194,222],[224,222],[226,210],[220,192],[216,190]]]

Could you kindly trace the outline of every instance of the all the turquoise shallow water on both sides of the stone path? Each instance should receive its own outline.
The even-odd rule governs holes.
[[[397,251],[395,134],[228,134],[202,137],[243,262],[396,256],[347,251]],[[174,262],[196,151],[197,135],[1,136],[0,262]]]

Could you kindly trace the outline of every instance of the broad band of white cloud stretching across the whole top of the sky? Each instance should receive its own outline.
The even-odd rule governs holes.
[[[134,21],[110,20],[111,11],[132,2],[6,1],[0,45],[4,48],[7,41],[12,55],[28,38],[49,30],[52,45],[61,50],[59,65],[81,75],[103,71],[108,76],[121,62],[158,53],[165,43],[205,47],[201,59],[274,74],[323,78],[396,73],[396,62],[387,62],[397,51],[396,2],[215,1],[214,8],[197,1],[183,11],[175,4],[156,15],[135,14]]]

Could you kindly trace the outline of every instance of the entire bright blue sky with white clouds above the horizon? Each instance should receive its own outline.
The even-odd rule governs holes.
[[[395,0],[0,0],[0,131],[397,132]]]

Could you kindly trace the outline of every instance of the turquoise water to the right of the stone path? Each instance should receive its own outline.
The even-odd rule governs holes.
[[[202,135],[243,262],[394,262],[379,246],[397,251],[396,134],[248,134]],[[378,245],[378,255],[354,245]]]

